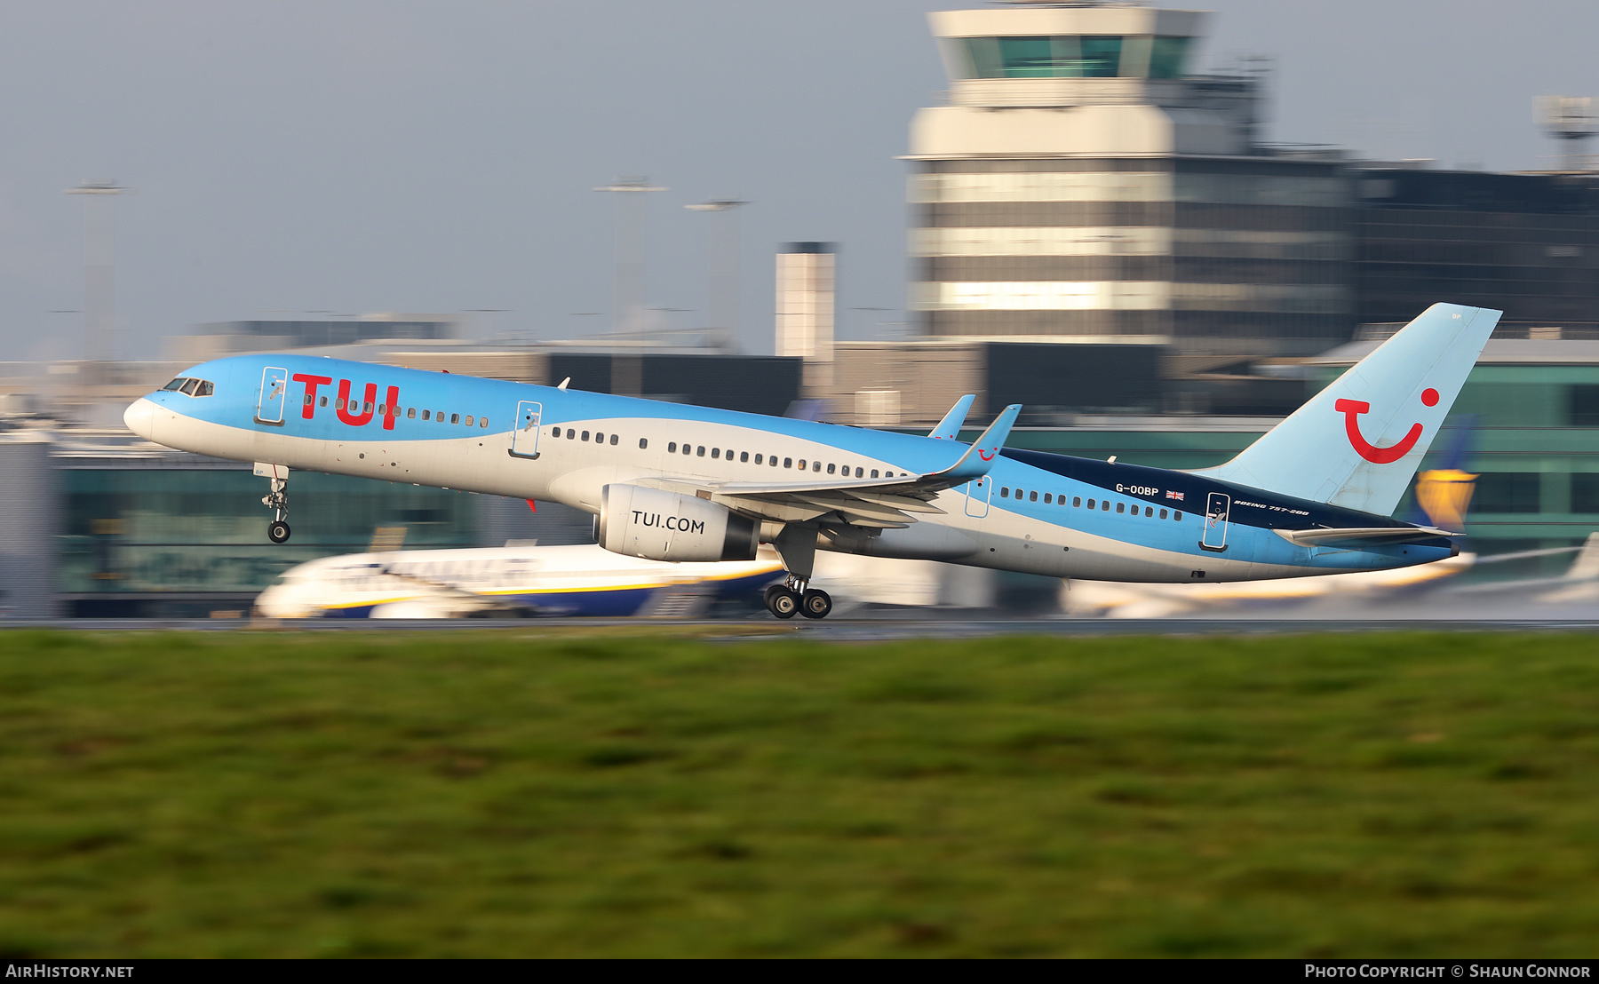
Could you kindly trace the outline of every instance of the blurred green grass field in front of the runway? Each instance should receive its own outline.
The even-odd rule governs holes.
[[[1594,955],[1589,636],[0,633],[0,954]]]

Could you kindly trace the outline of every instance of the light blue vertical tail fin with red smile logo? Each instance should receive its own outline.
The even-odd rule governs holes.
[[[1498,319],[1434,304],[1236,458],[1199,474],[1391,514]]]

